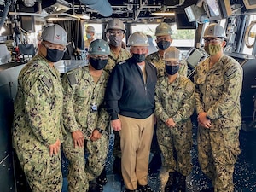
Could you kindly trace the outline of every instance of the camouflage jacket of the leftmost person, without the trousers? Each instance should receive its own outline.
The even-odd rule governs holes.
[[[61,114],[63,89],[60,73],[41,55],[33,57],[18,77],[15,98],[14,147],[49,147],[57,139],[63,142]]]

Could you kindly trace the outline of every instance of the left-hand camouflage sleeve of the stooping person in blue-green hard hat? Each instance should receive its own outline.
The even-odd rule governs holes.
[[[75,79],[73,79],[73,81],[75,81]],[[62,78],[62,86],[64,89],[63,124],[67,131],[77,131],[79,129],[79,125],[77,125],[77,121],[75,119],[76,115],[73,108],[75,82],[70,82],[70,79],[67,78],[67,73],[64,74]]]

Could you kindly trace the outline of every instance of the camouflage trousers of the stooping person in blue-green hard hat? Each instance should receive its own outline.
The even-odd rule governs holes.
[[[68,164],[68,191],[81,192],[89,189],[89,182],[98,177],[108,154],[108,133],[102,132],[102,137],[96,141],[84,141],[84,148],[74,148],[73,138],[67,133],[63,143],[63,152]],[[88,154],[87,161],[85,153]]]

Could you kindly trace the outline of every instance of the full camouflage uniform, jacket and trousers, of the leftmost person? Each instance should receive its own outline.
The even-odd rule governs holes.
[[[60,73],[36,55],[19,74],[13,130],[13,147],[34,192],[61,191],[61,153],[50,157],[49,145],[63,142],[62,104]]]

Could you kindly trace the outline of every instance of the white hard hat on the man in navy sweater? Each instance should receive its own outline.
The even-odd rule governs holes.
[[[149,46],[148,37],[143,32],[133,32],[128,38],[128,46]]]

